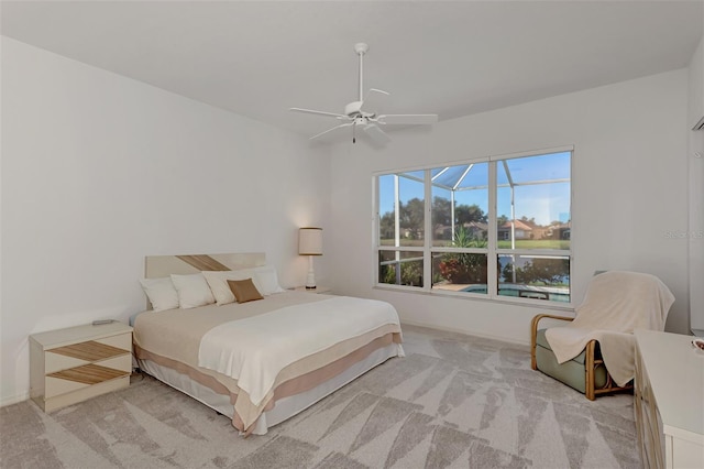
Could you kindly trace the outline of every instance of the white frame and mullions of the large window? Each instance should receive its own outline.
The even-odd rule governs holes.
[[[529,157],[529,156],[541,156],[553,153],[570,153],[570,247],[569,249],[506,249],[498,248],[498,230],[497,230],[497,168],[496,165],[499,162],[505,160],[514,160],[520,157]],[[572,309],[573,308],[573,293],[574,293],[574,242],[575,238],[573,236],[574,226],[575,226],[575,217],[573,211],[573,199],[574,199],[574,157],[575,151],[573,145],[559,146],[559,148],[550,148],[550,149],[541,149],[536,151],[527,151],[519,153],[510,153],[510,154],[502,154],[502,155],[488,155],[481,156],[475,159],[468,159],[461,161],[453,161],[448,163],[436,163],[427,166],[415,166],[410,168],[402,168],[402,170],[386,170],[378,171],[372,174],[373,178],[373,287],[380,290],[393,290],[416,294],[429,294],[429,295],[440,295],[440,296],[451,296],[466,299],[481,299],[481,301],[490,301],[495,303],[510,303],[510,304],[522,304],[522,305],[539,305],[543,308],[549,309]],[[477,163],[488,163],[488,212],[487,212],[487,247],[486,248],[452,248],[452,247],[433,247],[433,231],[432,231],[432,184],[431,184],[431,172],[435,168],[443,167],[443,166],[455,166],[455,165],[468,165],[468,164],[477,164]],[[396,177],[399,174],[404,173],[416,173],[422,171],[424,172],[424,243],[422,247],[410,247],[410,246],[382,246],[380,240],[380,220],[381,220],[381,210],[380,210],[380,176],[388,176],[395,175]],[[398,233],[397,233],[398,236]],[[419,257],[424,259],[424,285],[422,286],[410,286],[410,285],[397,285],[391,283],[380,283],[380,252],[418,252]],[[486,293],[471,293],[471,292],[453,292],[449,290],[442,288],[433,288],[432,285],[432,262],[433,262],[433,253],[470,253],[470,254],[484,254],[486,255]],[[570,301],[569,302],[554,302],[554,301],[544,301],[544,299],[535,299],[528,297],[514,297],[507,295],[498,294],[498,269],[496,266],[496,262],[492,262],[493,260],[498,259],[501,255],[539,255],[539,257],[548,257],[553,259],[564,259],[569,260],[570,269]],[[428,281],[430,280],[430,281]]]

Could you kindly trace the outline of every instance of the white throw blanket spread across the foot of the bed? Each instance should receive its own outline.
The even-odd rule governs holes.
[[[260,405],[288,364],[388,324],[399,325],[396,309],[375,299],[336,296],[287,306],[212,328],[200,341],[198,364],[238,380]]]

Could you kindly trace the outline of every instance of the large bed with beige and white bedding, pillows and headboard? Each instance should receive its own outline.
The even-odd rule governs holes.
[[[131,318],[140,369],[244,435],[404,356],[392,305],[286,291],[263,253],[147,257],[141,282],[150,301]]]

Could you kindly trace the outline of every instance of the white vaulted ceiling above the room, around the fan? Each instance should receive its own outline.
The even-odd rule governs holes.
[[[440,119],[686,67],[704,1],[2,1],[3,35],[304,135],[365,88]]]

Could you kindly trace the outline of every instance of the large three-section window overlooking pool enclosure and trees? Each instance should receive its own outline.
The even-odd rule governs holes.
[[[570,302],[572,150],[376,176],[377,284]]]

